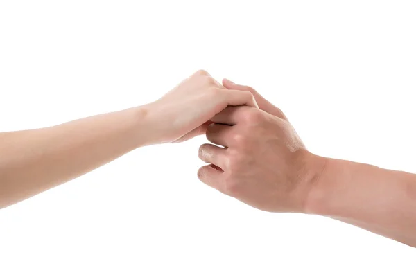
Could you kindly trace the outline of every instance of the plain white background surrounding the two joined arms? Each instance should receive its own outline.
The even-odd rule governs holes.
[[[0,1],[0,131],[256,88],[311,152],[416,172],[414,1]],[[0,211],[0,276],[415,276],[416,249],[200,183],[205,138],[135,150]]]

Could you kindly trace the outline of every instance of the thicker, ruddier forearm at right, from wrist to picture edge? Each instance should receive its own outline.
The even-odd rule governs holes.
[[[416,247],[416,175],[328,159],[311,189],[307,212]]]

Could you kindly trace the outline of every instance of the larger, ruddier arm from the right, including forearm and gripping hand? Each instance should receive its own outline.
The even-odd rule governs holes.
[[[250,91],[260,109],[227,107],[211,119],[202,182],[263,211],[324,215],[416,247],[416,175],[312,154],[257,91],[223,85]]]

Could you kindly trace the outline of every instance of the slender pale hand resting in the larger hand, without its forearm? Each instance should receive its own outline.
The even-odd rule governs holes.
[[[165,96],[148,105],[153,143],[187,141],[205,134],[209,120],[227,106],[258,107],[249,91],[225,89],[207,71],[197,71]]]

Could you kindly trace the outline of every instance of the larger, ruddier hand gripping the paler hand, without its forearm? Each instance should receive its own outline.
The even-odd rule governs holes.
[[[261,109],[227,107],[207,129],[212,144],[200,147],[209,166],[198,171],[202,182],[220,192],[272,212],[303,212],[324,163],[308,152],[286,116],[257,91],[227,80],[229,89],[251,91]],[[268,112],[266,112],[268,111]]]

